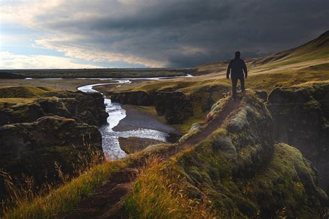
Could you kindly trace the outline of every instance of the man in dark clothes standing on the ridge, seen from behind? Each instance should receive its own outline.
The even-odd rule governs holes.
[[[231,74],[231,76],[230,76]],[[232,79],[232,91],[234,101],[237,99],[237,80],[240,80],[241,90],[244,92],[244,78],[247,78],[248,70],[246,63],[240,58],[240,52],[235,52],[235,58],[230,60],[228,70],[226,72],[226,79]]]

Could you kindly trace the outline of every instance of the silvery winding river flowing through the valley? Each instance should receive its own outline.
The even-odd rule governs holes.
[[[162,79],[173,79],[179,78],[182,76],[176,77],[165,77],[165,78],[142,78],[143,80],[162,80]],[[191,77],[191,75],[183,76],[183,77]],[[103,80],[103,79],[100,79]],[[125,84],[131,83],[132,80],[138,79],[111,79],[113,83],[96,83],[86,86],[81,86],[78,90],[82,92],[99,92],[94,90],[94,86],[104,86],[104,85],[115,85],[115,84]],[[136,136],[139,138],[153,138],[155,140],[167,141],[169,137],[169,133],[165,133],[162,131],[154,130],[154,129],[144,129],[139,128],[131,131],[114,131],[113,128],[116,127],[120,120],[126,117],[126,111],[121,107],[119,103],[112,103],[110,99],[104,96],[104,104],[106,105],[106,112],[108,113],[107,124],[104,124],[99,128],[102,136],[102,147],[103,152],[107,155],[108,159],[115,160],[121,159],[126,156],[126,153],[119,146],[119,137],[130,137]]]

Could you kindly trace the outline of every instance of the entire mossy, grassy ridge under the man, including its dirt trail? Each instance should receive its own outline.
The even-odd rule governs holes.
[[[274,142],[272,126],[252,90],[238,102],[228,94],[178,143],[150,145],[119,168],[96,166],[107,172],[103,166],[113,165],[107,177],[96,175],[97,183],[85,180],[96,189],[81,192],[82,175],[5,218],[321,218],[328,197],[317,172],[298,149]],[[64,192],[73,194],[54,196]],[[60,208],[51,207],[55,202]]]

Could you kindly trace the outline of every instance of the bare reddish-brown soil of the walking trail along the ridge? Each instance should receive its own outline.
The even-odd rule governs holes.
[[[177,152],[191,145],[201,143],[213,131],[221,127],[223,122],[235,115],[240,102],[241,99],[238,99],[237,102],[230,100],[217,119],[209,122],[207,127],[189,138],[185,143],[178,145],[178,147],[171,147],[167,152],[160,154],[161,159],[169,159]],[[136,179],[136,168],[140,168],[143,165],[144,162],[140,162],[134,168],[124,168],[121,172],[112,175],[108,181],[96,188],[94,194],[84,197],[78,204],[78,208],[75,211],[71,211],[65,218],[128,218],[122,211],[124,200],[133,189],[133,181]]]

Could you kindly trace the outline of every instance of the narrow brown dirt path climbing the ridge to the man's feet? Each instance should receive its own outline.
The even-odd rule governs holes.
[[[133,189],[133,181],[136,179],[136,169],[142,168],[153,155],[167,161],[178,152],[191,148],[194,144],[200,143],[202,140],[210,136],[212,131],[221,127],[231,114],[235,113],[239,108],[238,102],[226,102],[222,106],[223,113],[209,122],[209,126],[205,125],[205,130],[199,133],[191,132],[180,141],[173,145],[150,145],[146,147],[141,156],[137,156],[137,160],[133,161],[128,168],[111,177],[105,184],[99,186],[95,193],[90,197],[85,197],[78,204],[78,209],[69,213],[67,218],[125,218],[127,217],[124,210],[124,202],[126,197]],[[193,135],[193,136],[190,136]],[[134,158],[133,158],[134,159]],[[109,198],[110,197],[110,198]]]

